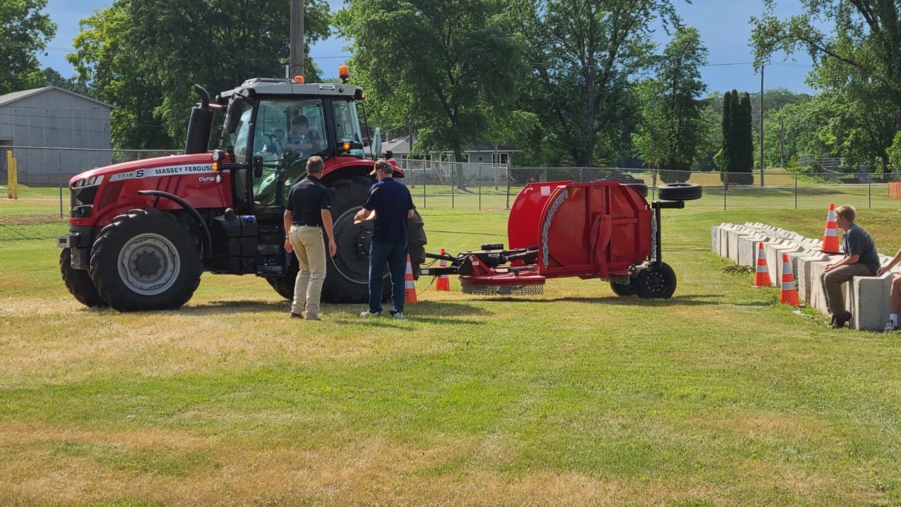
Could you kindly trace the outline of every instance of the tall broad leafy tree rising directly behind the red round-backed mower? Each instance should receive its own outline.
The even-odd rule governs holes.
[[[639,115],[631,77],[652,63],[651,26],[678,25],[669,0],[523,0],[532,111],[569,157],[592,167],[628,144]]]

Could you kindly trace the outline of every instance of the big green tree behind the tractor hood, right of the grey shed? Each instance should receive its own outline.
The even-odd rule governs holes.
[[[179,146],[197,100],[247,78],[282,76],[288,58],[287,2],[264,0],[115,0],[81,22],[68,60],[92,81],[97,98],[117,107],[114,145]],[[305,47],[329,33],[323,0],[307,0]],[[317,78],[305,64],[307,80]]]

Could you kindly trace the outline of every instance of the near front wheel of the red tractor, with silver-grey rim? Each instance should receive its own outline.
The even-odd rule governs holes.
[[[105,226],[91,253],[97,292],[119,311],[177,309],[204,271],[197,236],[159,209],[132,209]]]

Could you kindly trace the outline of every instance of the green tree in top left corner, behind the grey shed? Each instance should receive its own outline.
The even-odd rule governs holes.
[[[34,55],[57,29],[45,7],[47,0],[0,0],[0,95],[44,86]]]

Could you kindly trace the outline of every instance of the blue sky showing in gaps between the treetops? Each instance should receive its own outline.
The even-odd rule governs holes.
[[[287,0],[270,0],[282,1]],[[722,65],[729,63],[750,62],[753,54],[749,46],[751,25],[748,20],[752,15],[763,12],[762,0],[695,0],[687,4],[683,0],[674,0],[679,15],[689,26],[701,32],[707,50],[710,51],[710,65],[703,69],[703,77],[710,91],[722,91],[732,88],[741,90],[760,89],[760,74],[754,72],[750,64]],[[85,18],[95,9],[103,9],[112,5],[112,0],[50,0],[47,10],[50,18],[58,25],[57,37],[50,41],[50,49],[46,55],[39,55],[44,66],[59,70],[63,76],[75,73],[65,60],[66,48],[71,48],[72,39],[78,33],[78,21]],[[332,9],[338,9],[342,0],[329,0]],[[801,11],[797,0],[779,0],[777,14],[787,17]],[[665,44],[666,33],[657,33],[658,41]],[[337,37],[319,42],[311,48],[311,56],[323,69],[325,76],[336,76],[338,66],[347,55],[344,47],[347,41]],[[662,47],[661,47],[662,51]],[[334,58],[339,57],[339,58]],[[795,62],[782,63],[779,56],[773,65],[766,69],[766,88],[785,87],[797,92],[811,92],[804,82],[810,70],[810,59],[805,54],[796,54]]]

